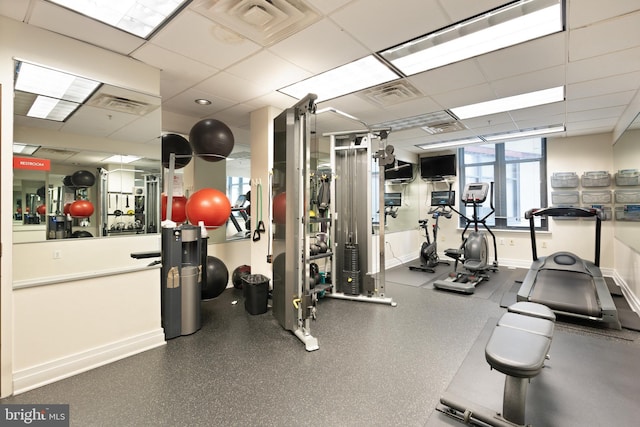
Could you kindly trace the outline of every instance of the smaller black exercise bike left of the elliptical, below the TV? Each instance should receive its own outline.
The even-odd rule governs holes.
[[[441,261],[438,256],[438,221],[441,216],[447,219],[451,218],[452,211],[449,208],[449,205],[451,205],[449,199],[453,200],[453,198],[455,198],[454,194],[455,193],[451,191],[431,192],[431,209],[429,209],[428,214],[431,215],[431,218],[435,219],[435,223],[433,224],[433,241],[431,241],[429,237],[429,219],[418,220],[418,225],[424,229],[426,241],[422,242],[422,246],[420,247],[420,265],[410,265],[409,270],[435,273],[435,267],[439,264],[449,265],[448,261]]]

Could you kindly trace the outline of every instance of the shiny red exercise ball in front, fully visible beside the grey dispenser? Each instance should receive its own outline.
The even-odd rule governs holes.
[[[193,193],[186,205],[187,218],[193,225],[204,222],[205,227],[219,227],[231,215],[227,196],[215,188],[203,188]]]

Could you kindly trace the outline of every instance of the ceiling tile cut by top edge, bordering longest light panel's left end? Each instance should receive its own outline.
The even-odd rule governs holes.
[[[379,51],[451,23],[433,1],[360,0],[330,15],[363,45]]]

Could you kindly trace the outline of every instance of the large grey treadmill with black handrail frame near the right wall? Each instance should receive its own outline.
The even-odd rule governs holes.
[[[594,262],[571,252],[538,257],[534,218],[536,216],[589,218],[596,220]],[[560,315],[605,323],[621,329],[618,311],[600,271],[600,231],[602,211],[592,208],[548,207],[525,212],[531,232],[533,263],[518,291],[518,301],[544,304]]]

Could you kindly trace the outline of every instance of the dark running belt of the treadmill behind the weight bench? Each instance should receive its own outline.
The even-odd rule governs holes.
[[[538,271],[529,301],[557,311],[593,317],[601,315],[593,278],[584,273]]]

